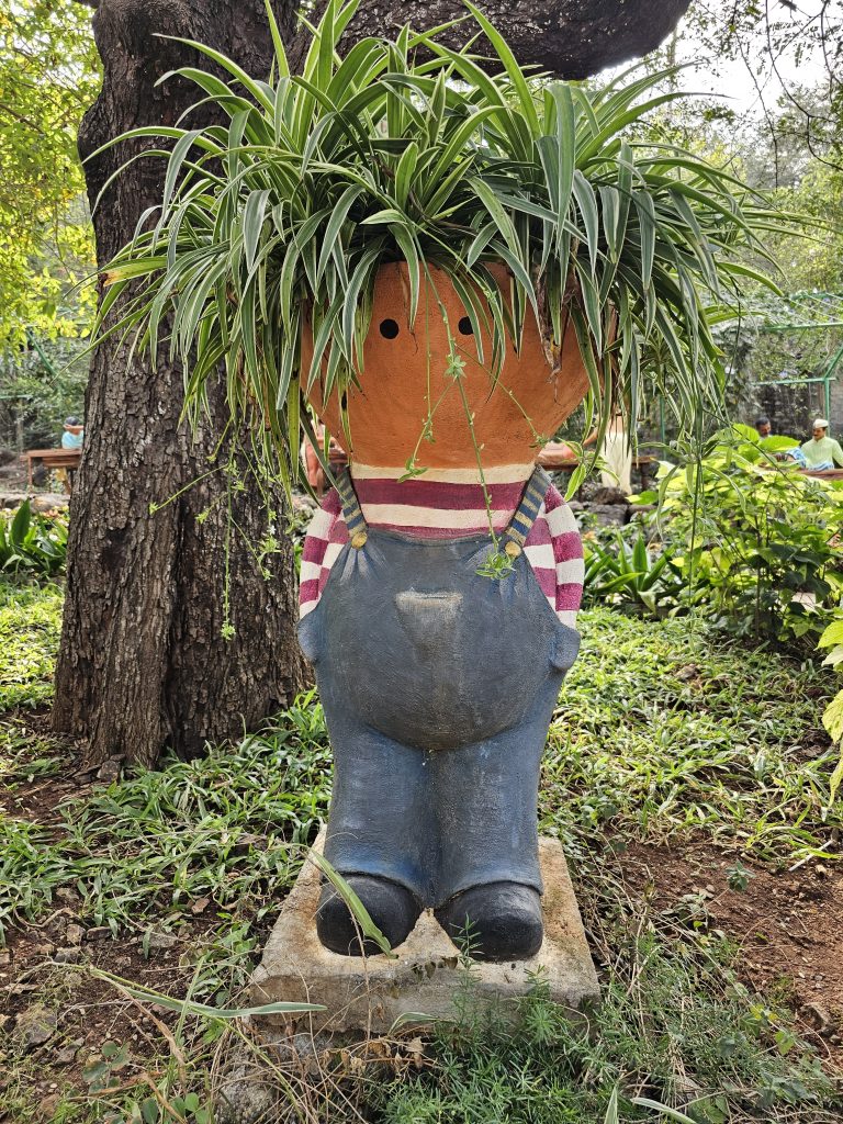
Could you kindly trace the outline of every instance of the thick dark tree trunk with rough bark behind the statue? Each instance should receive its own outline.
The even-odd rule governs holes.
[[[291,36],[289,13],[279,16]],[[80,130],[83,156],[126,129],[175,124],[199,99],[181,79],[155,87],[172,67],[205,65],[155,33],[208,43],[253,73],[269,72],[263,0],[102,0],[94,34],[105,80]],[[85,165],[92,206],[143,144]],[[163,161],[146,157],[106,189],[94,212],[100,265],[160,202],[163,171]],[[242,490],[244,459],[230,442],[214,455],[224,429],[221,384],[211,401],[217,417],[194,439],[180,422],[181,371],[163,350],[154,371],[148,356],[128,352],[128,342],[109,338],[91,370],[55,726],[87,737],[93,763],[120,756],[153,764],[165,745],[193,755],[208,741],[253,728],[301,689],[305,663],[283,498],[271,493],[265,505],[254,484]],[[279,549],[259,565],[254,552],[269,534]],[[235,635],[225,638],[229,618]]]

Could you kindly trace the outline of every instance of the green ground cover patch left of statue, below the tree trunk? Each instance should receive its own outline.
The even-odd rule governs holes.
[[[2,821],[0,926],[36,919],[61,886],[80,892],[80,916],[115,934],[148,917],[178,927],[202,897],[260,921],[327,813],[321,707],[305,696],[233,749],[164,765],[69,803],[57,827]]]

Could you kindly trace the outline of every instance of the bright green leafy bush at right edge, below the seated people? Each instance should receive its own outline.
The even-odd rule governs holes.
[[[843,672],[843,484],[776,460],[790,437],[761,438],[751,426],[716,434],[705,455],[660,470],[658,500],[670,564],[687,599],[758,638],[801,637]],[[843,690],[823,713],[843,742]],[[843,783],[843,759],[832,799]]]

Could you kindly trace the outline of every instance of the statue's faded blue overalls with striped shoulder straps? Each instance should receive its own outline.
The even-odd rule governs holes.
[[[540,761],[579,649],[523,550],[547,487],[536,469],[496,579],[477,572],[489,535],[369,527],[348,472],[337,482],[350,542],[299,625],[334,750],[325,855],[402,887],[416,915],[471,887],[542,891]]]

